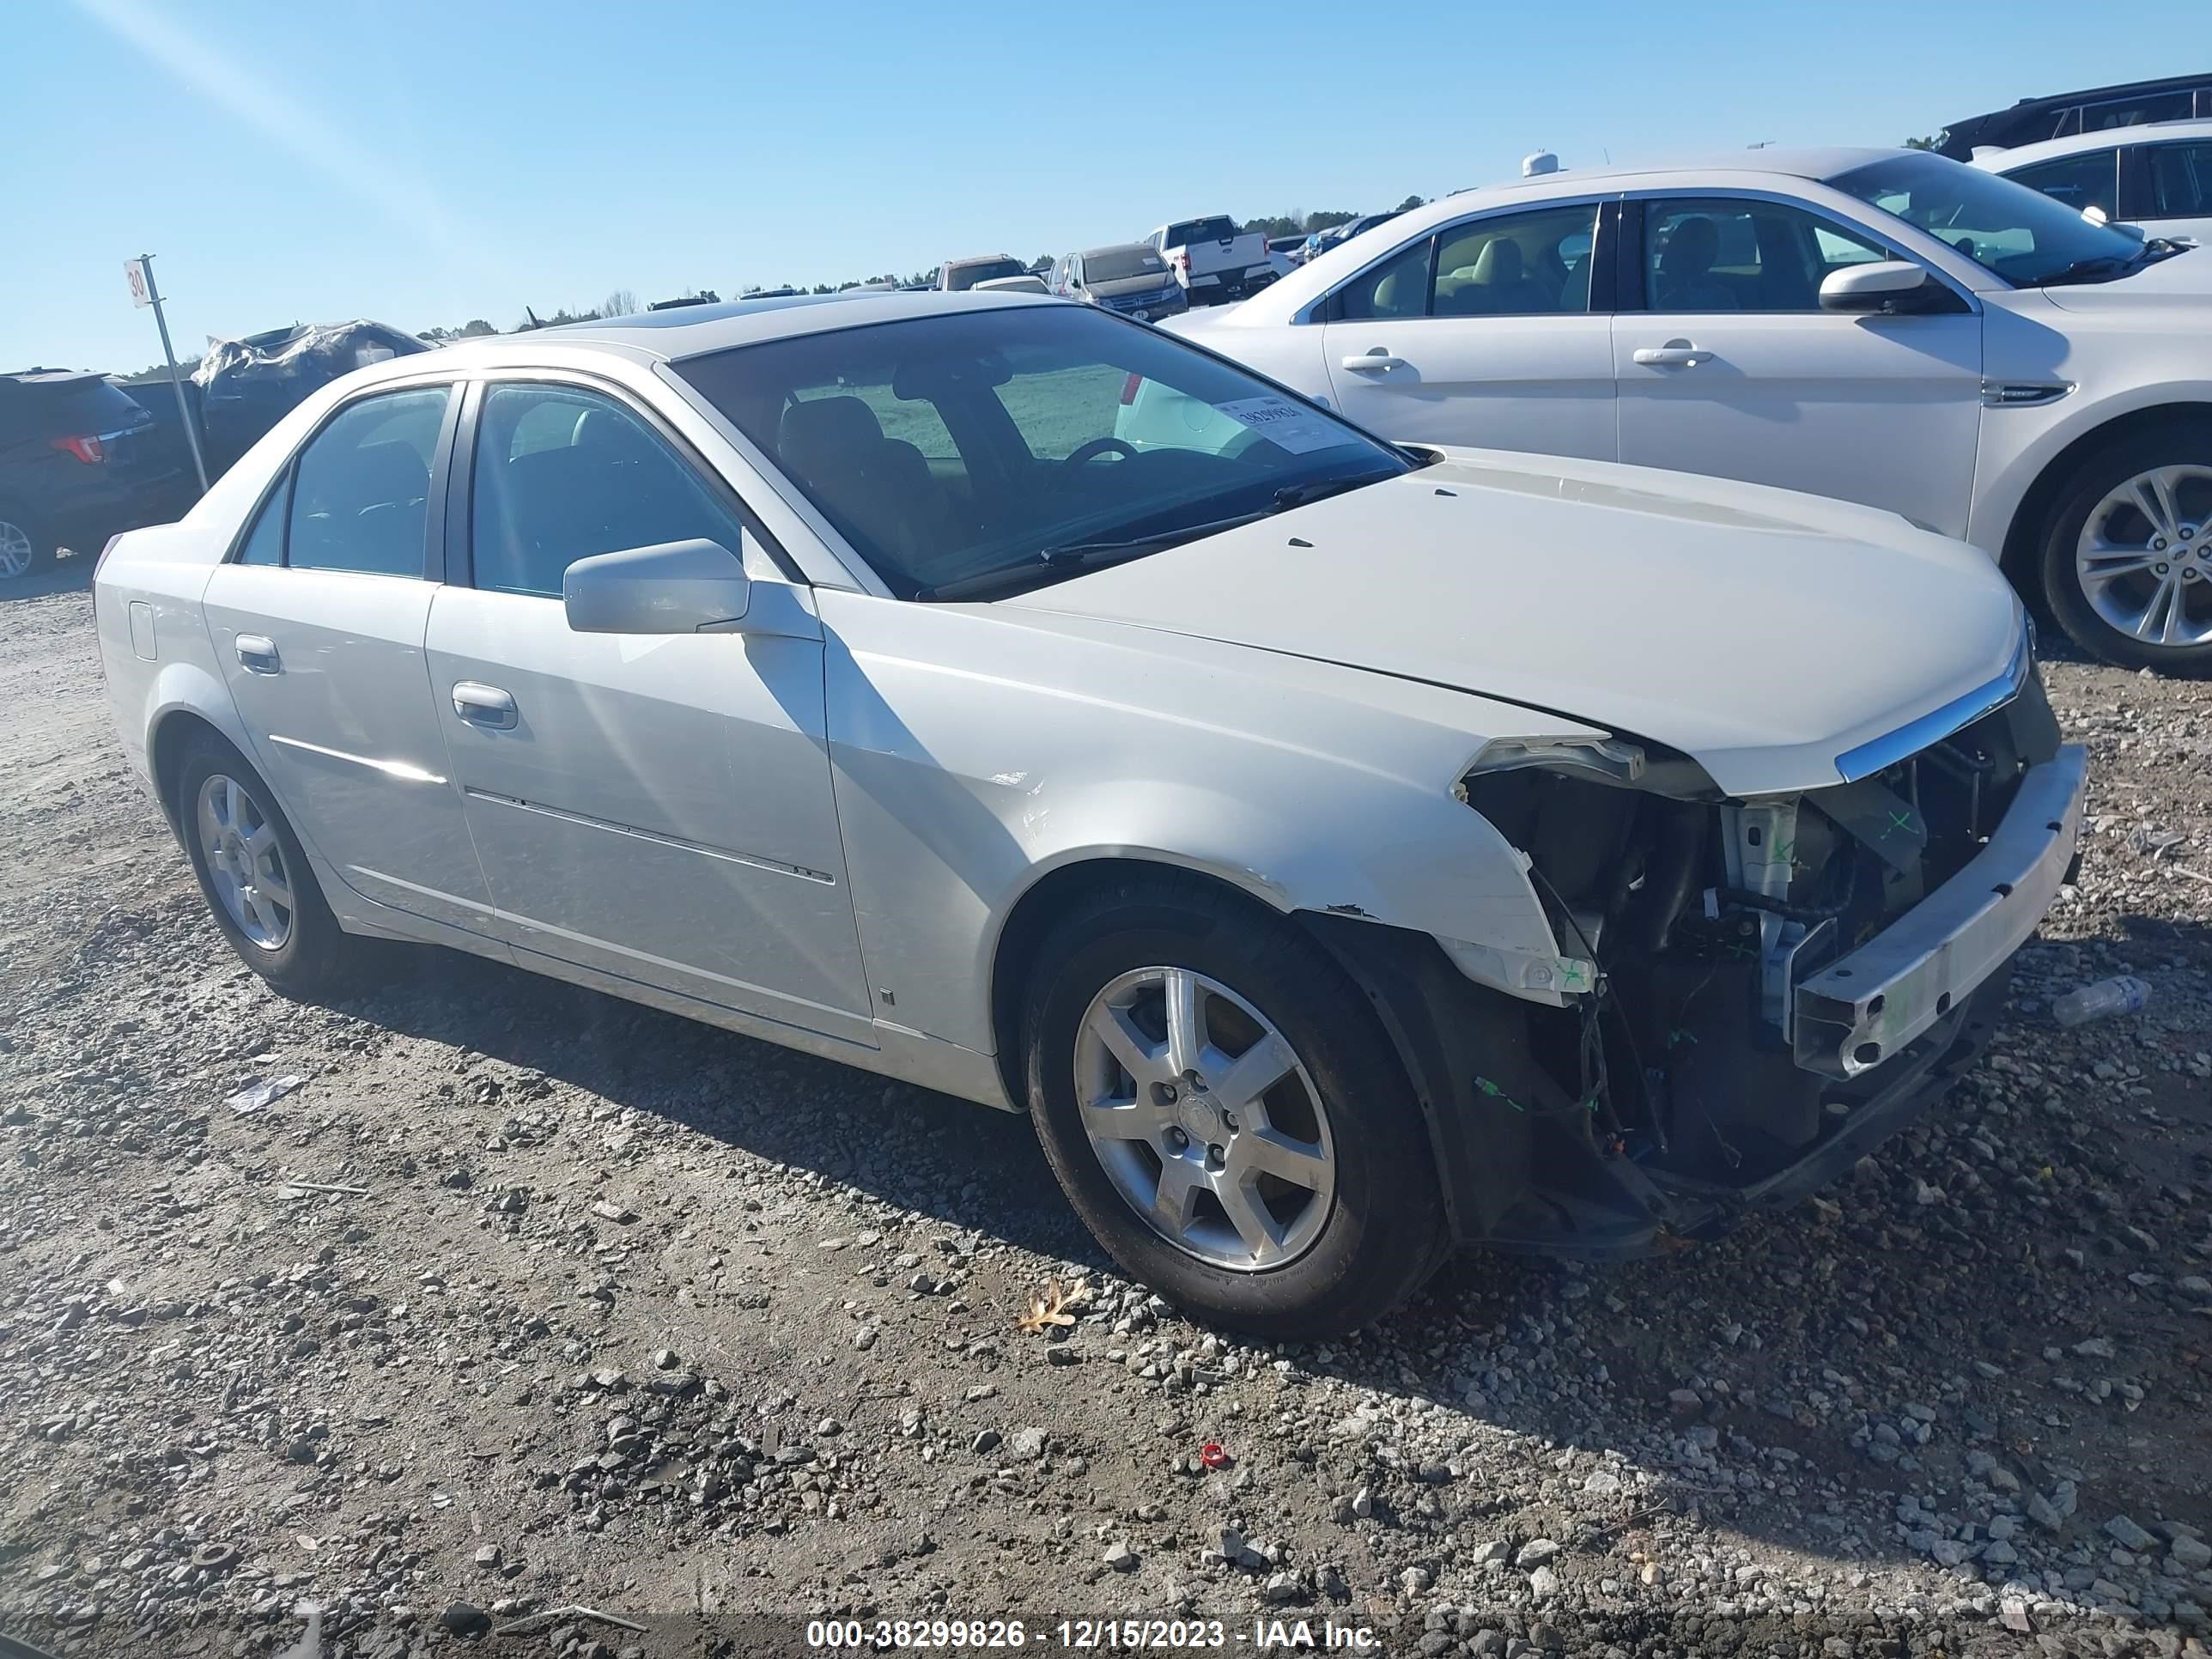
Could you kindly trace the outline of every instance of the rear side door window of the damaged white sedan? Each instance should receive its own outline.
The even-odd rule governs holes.
[[[451,387],[347,405],[299,453],[285,564],[301,571],[422,575],[429,473]]]

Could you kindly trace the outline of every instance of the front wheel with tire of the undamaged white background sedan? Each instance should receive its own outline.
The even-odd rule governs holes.
[[[2081,462],[2044,538],[2044,595],[2104,661],[2212,672],[2212,422],[2179,420]]]

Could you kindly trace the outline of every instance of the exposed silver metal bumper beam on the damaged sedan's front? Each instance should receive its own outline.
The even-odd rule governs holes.
[[[1843,960],[1796,987],[1794,1060],[1858,1077],[1927,1033],[2035,931],[2081,834],[2088,752],[2028,768],[1989,845]]]

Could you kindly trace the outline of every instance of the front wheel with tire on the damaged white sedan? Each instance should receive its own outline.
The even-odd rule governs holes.
[[[1338,1336],[1449,1250],[1413,1088],[1307,933],[1201,880],[1133,876],[1040,949],[1037,1139],[1135,1279],[1265,1338]]]

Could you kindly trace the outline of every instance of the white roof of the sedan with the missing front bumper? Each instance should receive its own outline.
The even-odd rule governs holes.
[[[827,334],[841,327],[865,327],[869,323],[900,323],[916,316],[945,316],[949,312],[982,312],[1004,305],[1042,305],[1042,294],[993,294],[993,292],[883,292],[860,294],[781,294],[776,299],[743,299],[721,305],[686,305],[670,312],[639,312],[637,316],[608,316],[595,323],[560,323],[524,334],[484,334],[473,341],[453,341],[440,347],[453,356],[478,361],[522,358],[542,345],[608,347],[630,356],[661,358],[668,363],[726,352],[732,345],[757,345],[781,341],[794,334]],[[394,365],[425,369],[422,356],[394,358]]]

